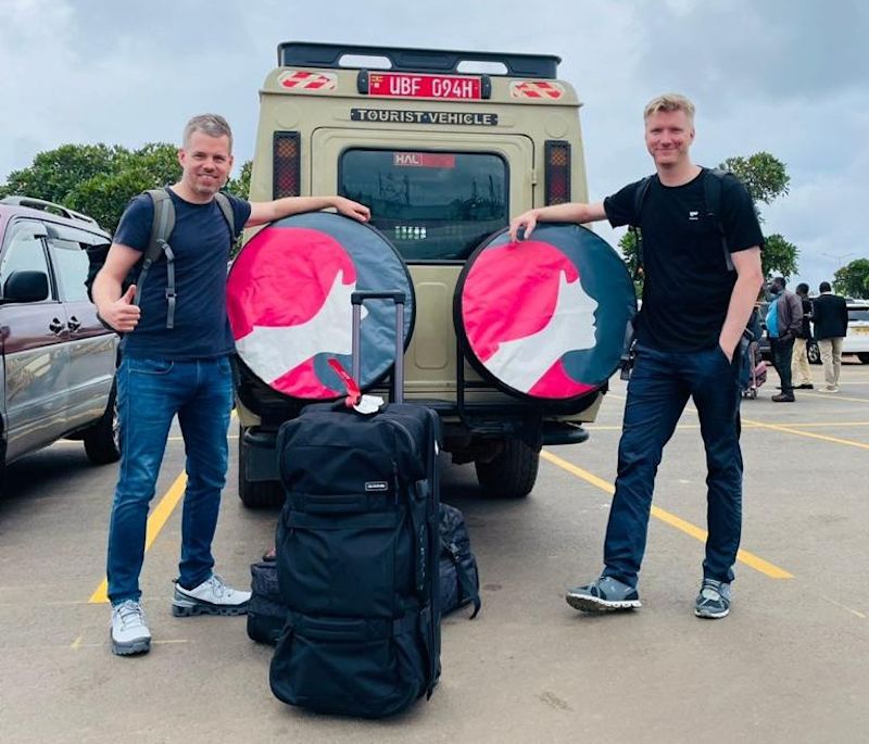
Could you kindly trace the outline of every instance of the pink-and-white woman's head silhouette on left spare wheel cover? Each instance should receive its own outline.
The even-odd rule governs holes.
[[[236,351],[272,388],[298,398],[332,398],[318,355],[351,352],[350,295],[356,269],[331,236],[301,227],[266,229],[244,248],[229,276]]]

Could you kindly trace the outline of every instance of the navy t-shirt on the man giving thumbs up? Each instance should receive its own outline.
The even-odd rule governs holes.
[[[166,261],[159,258],[149,269],[139,298],[139,325],[125,335],[123,352],[126,356],[175,362],[230,354],[235,343],[226,314],[226,266],[238,235],[230,237],[216,201],[193,204],[172,189],[168,192],[175,206],[175,228],[167,241],[175,254],[175,327],[166,328]],[[240,234],[251,205],[227,197]],[[133,199],[121,217],[114,242],[144,252],[153,215],[148,194]]]

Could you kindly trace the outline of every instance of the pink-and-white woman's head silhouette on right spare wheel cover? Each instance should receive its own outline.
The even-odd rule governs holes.
[[[529,240],[480,253],[462,288],[470,351],[500,382],[534,398],[594,390],[565,361],[595,346],[597,301],[558,248]]]

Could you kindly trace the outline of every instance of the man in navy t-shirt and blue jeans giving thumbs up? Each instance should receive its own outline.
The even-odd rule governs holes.
[[[148,194],[124,212],[105,265],[93,281],[100,317],[123,332],[116,375],[121,471],[112,504],[108,579],[112,603],[112,651],[147,653],[151,632],[142,613],[139,573],[144,558],[148,505],[154,495],[169,426],[177,414],[187,454],[181,517],[181,560],[172,609],[176,616],[240,615],[250,592],[228,587],[214,573],[211,544],[226,481],[226,432],[232,408],[226,313],[226,266],[241,228],[291,214],[335,207],[366,222],[366,206],[341,197],[288,197],[247,202],[228,197],[236,235],[215,201],[232,169],[232,134],[222,116],[191,118],[178,151],[181,179],[168,196],[175,226],[175,306],[169,310],[167,262],[151,267],[142,294],[122,291],[151,236],[154,206]],[[167,319],[172,317],[172,323]]]

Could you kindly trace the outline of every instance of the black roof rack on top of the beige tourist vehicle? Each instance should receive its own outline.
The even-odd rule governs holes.
[[[413,73],[458,73],[463,63],[483,63],[503,65],[505,73],[513,77],[557,77],[562,58],[554,54],[511,54],[501,52],[463,52],[441,49],[408,49],[404,47],[366,47],[345,43],[320,43],[314,41],[284,41],[278,45],[278,66],[280,67],[329,67],[337,70],[368,70],[369,65],[347,56],[386,58],[385,67],[394,72]],[[499,73],[486,71],[486,74]]]

